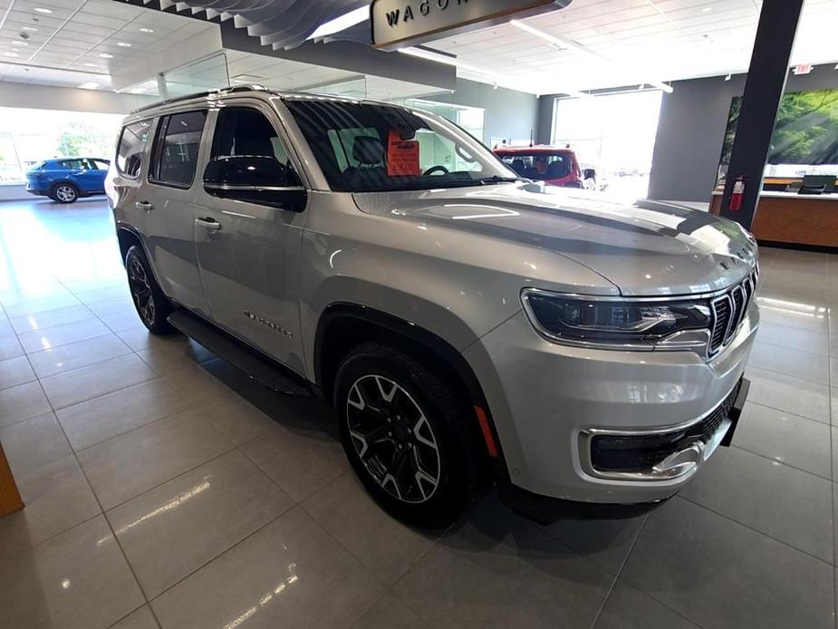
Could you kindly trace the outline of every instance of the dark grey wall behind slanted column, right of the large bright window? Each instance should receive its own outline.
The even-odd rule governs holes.
[[[649,198],[708,201],[716,185],[730,100],[745,89],[745,74],[672,83],[663,95],[649,184]],[[820,65],[809,74],[789,73],[786,92],[838,88],[838,71]],[[544,98],[544,97],[543,97]]]

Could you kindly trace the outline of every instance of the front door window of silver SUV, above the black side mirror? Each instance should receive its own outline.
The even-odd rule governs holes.
[[[288,158],[288,151],[265,115],[261,111],[246,107],[224,109],[218,113],[210,161],[243,155],[272,157],[278,161],[284,180],[276,181],[274,185],[300,185],[300,179]]]

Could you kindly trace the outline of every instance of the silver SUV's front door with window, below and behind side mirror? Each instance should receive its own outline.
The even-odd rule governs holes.
[[[207,161],[245,155],[275,158],[299,185],[274,119],[260,102],[230,102],[217,113]],[[278,180],[275,186],[290,183]],[[212,192],[196,193],[195,243],[213,320],[303,373],[299,278],[304,213]]]

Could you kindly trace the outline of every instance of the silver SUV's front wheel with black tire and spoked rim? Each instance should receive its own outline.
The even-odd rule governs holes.
[[[338,369],[334,406],[352,468],[390,515],[441,527],[477,499],[468,407],[425,364],[388,345],[361,344]]]

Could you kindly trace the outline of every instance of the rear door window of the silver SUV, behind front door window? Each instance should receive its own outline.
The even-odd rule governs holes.
[[[149,179],[188,188],[195,179],[197,151],[207,111],[173,113],[160,123]]]

